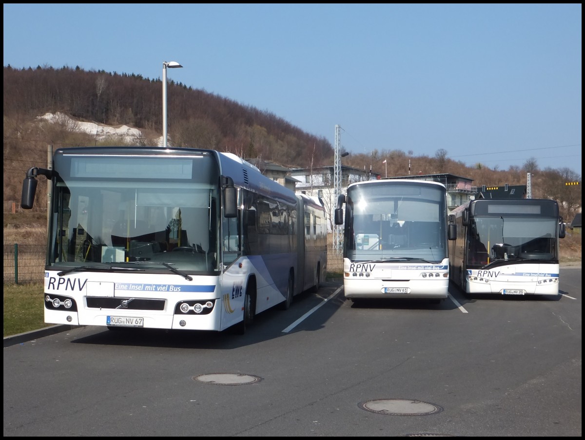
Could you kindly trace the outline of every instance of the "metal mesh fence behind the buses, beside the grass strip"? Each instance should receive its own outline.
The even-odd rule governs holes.
[[[46,247],[44,245],[4,245],[5,283],[42,283]],[[327,271],[340,273],[343,257],[340,250],[327,249]]]

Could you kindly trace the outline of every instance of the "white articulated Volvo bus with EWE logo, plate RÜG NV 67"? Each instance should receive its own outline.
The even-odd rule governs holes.
[[[325,274],[322,205],[233,154],[58,149],[52,169],[27,172],[23,208],[40,175],[51,190],[47,323],[242,334]]]

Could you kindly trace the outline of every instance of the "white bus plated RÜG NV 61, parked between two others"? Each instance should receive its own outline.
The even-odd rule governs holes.
[[[438,182],[382,179],[350,184],[339,195],[346,298],[447,297],[447,242],[456,231],[446,194]]]

